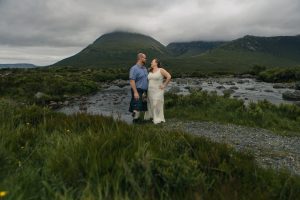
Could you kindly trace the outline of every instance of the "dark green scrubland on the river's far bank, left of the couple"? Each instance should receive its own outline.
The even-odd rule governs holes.
[[[63,101],[98,91],[104,81],[127,79],[127,69],[79,69],[73,67],[2,69],[0,94],[26,103]],[[43,93],[40,98],[35,95]]]

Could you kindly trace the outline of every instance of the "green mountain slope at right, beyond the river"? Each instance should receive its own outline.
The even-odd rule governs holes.
[[[247,71],[254,65],[300,67],[300,36],[243,38],[194,56],[168,60],[170,66],[191,71]]]

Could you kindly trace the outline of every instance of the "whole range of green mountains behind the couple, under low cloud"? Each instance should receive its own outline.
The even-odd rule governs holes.
[[[136,54],[145,52],[174,71],[247,71],[254,65],[300,67],[300,36],[245,36],[230,42],[171,43],[167,47],[152,37],[113,32],[98,38],[78,54],[53,66],[130,67]]]

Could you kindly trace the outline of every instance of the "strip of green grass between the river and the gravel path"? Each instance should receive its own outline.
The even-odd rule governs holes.
[[[276,106],[268,101],[244,105],[242,100],[195,92],[188,96],[167,94],[166,116],[181,120],[215,121],[272,130],[280,135],[300,135],[300,108]]]

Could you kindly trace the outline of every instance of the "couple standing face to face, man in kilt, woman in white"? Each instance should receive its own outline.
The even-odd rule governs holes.
[[[157,58],[152,60],[149,73],[145,64],[146,55],[139,53],[137,63],[130,68],[132,98],[129,111],[132,112],[134,122],[139,119],[141,112],[145,112],[144,120],[152,119],[154,124],[158,124],[165,122],[164,89],[170,82],[171,75],[161,68]]]

